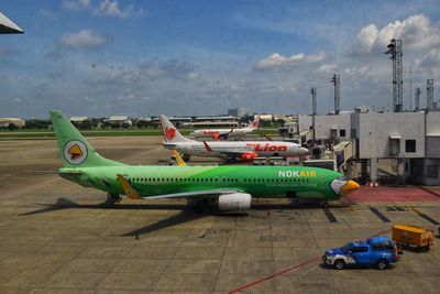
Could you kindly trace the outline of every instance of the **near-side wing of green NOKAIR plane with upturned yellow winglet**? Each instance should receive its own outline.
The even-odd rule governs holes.
[[[207,189],[207,190],[195,190],[195,192],[183,192],[183,193],[172,193],[157,196],[141,196],[138,190],[133,188],[132,185],[123,177],[123,175],[118,174],[119,182],[122,185],[123,190],[130,199],[162,199],[162,198],[217,198],[220,195],[243,193],[240,189]]]

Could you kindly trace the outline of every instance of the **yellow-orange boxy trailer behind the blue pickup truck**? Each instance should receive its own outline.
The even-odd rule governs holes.
[[[433,230],[410,225],[393,226],[393,240],[400,247],[415,247],[429,250],[433,244]]]

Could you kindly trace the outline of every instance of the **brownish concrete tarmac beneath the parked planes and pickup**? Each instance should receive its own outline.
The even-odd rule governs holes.
[[[130,164],[169,160],[160,139],[91,138]],[[197,164],[207,164],[196,161]],[[61,178],[53,140],[0,141],[0,293],[438,293],[440,240],[391,269],[323,268],[329,248],[394,224],[436,231],[440,189],[363,188],[319,204],[255,200],[196,214],[185,200],[123,199]]]

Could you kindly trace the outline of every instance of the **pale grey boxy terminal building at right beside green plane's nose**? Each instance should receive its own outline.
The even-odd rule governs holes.
[[[312,132],[312,117],[298,116],[298,133]],[[353,111],[315,117],[315,140],[333,145],[351,141],[353,163],[377,181],[377,163],[392,162],[397,181],[440,185],[440,112]]]

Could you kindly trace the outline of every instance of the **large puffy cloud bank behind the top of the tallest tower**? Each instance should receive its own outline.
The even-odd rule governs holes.
[[[384,52],[393,37],[403,40],[404,48],[426,50],[440,44],[440,24],[431,24],[424,14],[391,22],[381,30],[375,24],[369,24],[358,33],[350,53],[367,55]]]

